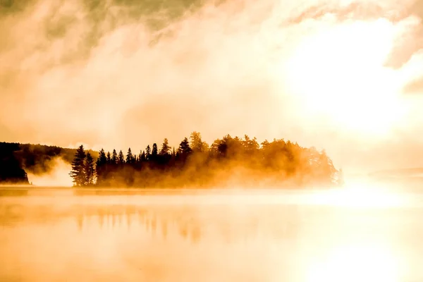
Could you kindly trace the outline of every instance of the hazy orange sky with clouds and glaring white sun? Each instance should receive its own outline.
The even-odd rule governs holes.
[[[0,0],[0,139],[284,138],[423,166],[423,1]]]

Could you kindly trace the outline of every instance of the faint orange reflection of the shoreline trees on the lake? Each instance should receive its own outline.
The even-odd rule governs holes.
[[[292,206],[246,205],[239,209],[242,212],[235,213],[233,207],[223,205],[200,207],[79,204],[59,210],[49,205],[0,204],[0,224],[13,225],[20,222],[49,224],[73,216],[76,228],[80,232],[87,226],[93,225],[101,231],[104,231],[104,227],[116,230],[126,225],[130,232],[144,230],[142,232],[152,237],[159,232],[161,240],[167,240],[171,234],[195,244],[204,236],[216,238],[217,235],[217,238],[233,243],[263,237],[274,240],[295,239],[307,232],[303,229],[305,224],[302,222],[305,214],[309,220],[313,220],[314,216],[325,219],[326,224],[329,224],[332,222],[330,214],[333,213],[317,212],[317,208],[311,207],[296,209]],[[324,221],[318,223],[324,224]]]

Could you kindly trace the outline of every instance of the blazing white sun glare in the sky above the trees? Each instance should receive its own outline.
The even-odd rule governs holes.
[[[292,90],[309,114],[345,130],[381,135],[404,113],[398,81],[384,68],[393,44],[388,20],[328,27],[305,39],[288,62]]]

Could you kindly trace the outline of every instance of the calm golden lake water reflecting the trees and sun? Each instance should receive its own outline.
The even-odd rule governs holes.
[[[0,197],[0,281],[423,281],[419,197]]]

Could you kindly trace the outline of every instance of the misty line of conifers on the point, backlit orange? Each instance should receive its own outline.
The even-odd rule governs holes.
[[[339,171],[326,152],[283,139],[272,142],[245,135],[225,135],[212,145],[193,132],[175,149],[164,138],[161,147],[147,145],[138,154],[99,151],[96,161],[81,145],[70,173],[76,187],[184,188],[224,185],[333,185]]]

